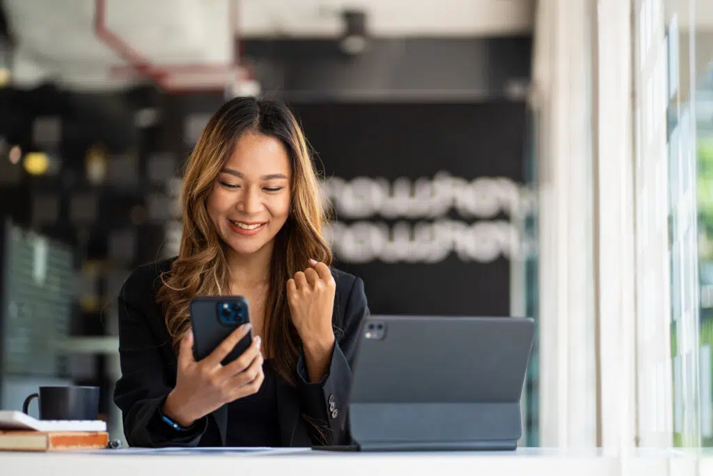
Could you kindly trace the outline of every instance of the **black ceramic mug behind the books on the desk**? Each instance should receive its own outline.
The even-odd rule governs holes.
[[[40,387],[22,404],[27,413],[30,402],[39,398],[40,420],[96,420],[99,414],[98,387]]]

